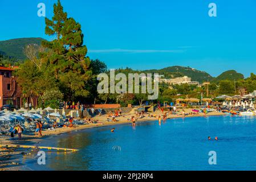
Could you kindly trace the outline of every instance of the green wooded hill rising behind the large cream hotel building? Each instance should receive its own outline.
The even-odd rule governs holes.
[[[151,69],[147,70],[144,72],[154,72],[154,73],[159,73],[162,75],[173,75],[174,77],[177,76],[188,76],[191,77],[192,81],[199,81],[199,82],[204,82],[204,81],[211,81],[213,80],[213,77],[210,76],[208,73],[204,71],[198,71],[197,69],[193,69],[190,67],[180,67],[180,66],[173,66],[173,67],[166,67],[162,69]]]

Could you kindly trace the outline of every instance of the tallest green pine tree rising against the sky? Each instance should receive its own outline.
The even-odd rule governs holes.
[[[90,59],[87,57],[87,47],[83,45],[81,25],[67,13],[58,0],[54,5],[54,16],[46,18],[45,32],[55,36],[51,42],[44,41],[42,45],[47,51],[42,53],[42,59],[48,63],[48,71],[56,78],[59,89],[64,97],[77,100],[88,96],[88,80]]]

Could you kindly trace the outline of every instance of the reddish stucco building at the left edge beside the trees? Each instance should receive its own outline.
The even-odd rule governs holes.
[[[21,86],[17,83],[17,78],[13,76],[15,68],[0,67],[0,107],[12,104],[17,108],[24,107],[24,101],[33,106],[37,105],[36,98],[26,97],[22,94]],[[16,68],[17,69],[17,68]]]

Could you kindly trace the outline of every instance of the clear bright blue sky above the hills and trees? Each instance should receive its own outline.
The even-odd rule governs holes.
[[[44,35],[53,0],[0,1],[0,40]],[[190,66],[217,76],[235,69],[256,73],[255,0],[62,0],[64,11],[82,24],[88,56],[108,68],[155,69]],[[217,17],[208,5],[217,5]]]

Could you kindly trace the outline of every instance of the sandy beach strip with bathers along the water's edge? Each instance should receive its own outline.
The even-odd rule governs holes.
[[[191,113],[191,109],[185,109],[185,113]],[[181,113],[181,112],[178,112]],[[157,117],[159,115],[162,115],[161,111],[155,111],[151,113],[153,115],[156,115]],[[57,128],[54,130],[43,130],[43,137],[35,137],[34,133],[27,133],[23,134],[23,140],[19,141],[17,139],[17,136],[14,138],[11,138],[10,135],[0,135],[0,144],[6,145],[6,144],[24,144],[24,143],[36,143],[39,142],[40,139],[47,139],[47,136],[52,136],[52,135],[59,135],[63,133],[68,133],[76,130],[84,130],[84,129],[90,129],[94,127],[101,127],[101,126],[113,126],[113,125],[119,125],[119,124],[124,124],[124,123],[131,123],[131,121],[127,121],[127,119],[131,118],[131,116],[135,114],[132,113],[127,113],[122,115],[121,117],[117,117],[117,122],[108,122],[107,121],[107,115],[96,115],[93,119],[97,121],[98,123],[87,123],[86,125],[78,125],[75,126],[74,128],[68,128],[68,127],[62,127],[62,128]],[[225,115],[224,113],[220,113],[217,111],[210,112],[208,114],[204,113],[198,113],[195,115],[189,115],[187,114],[185,118],[189,117],[208,117],[208,116],[213,116],[213,115]],[[136,122],[145,122],[145,121],[156,121],[157,117],[149,117],[148,114],[145,114],[144,118],[137,119]],[[169,114],[168,115],[168,121],[170,122],[170,119],[173,118],[182,118],[181,114]],[[131,123],[132,125],[132,123]],[[109,129],[110,130],[110,129]],[[54,147],[54,146],[51,146]],[[18,158],[22,158],[23,155],[29,155],[26,154],[26,150],[17,150],[17,149],[11,149],[11,148],[0,148],[0,171],[1,170],[19,170],[22,164],[19,164]],[[17,157],[19,156],[19,157]]]

